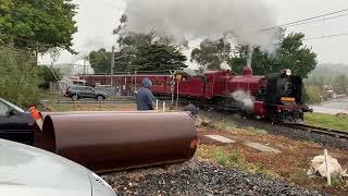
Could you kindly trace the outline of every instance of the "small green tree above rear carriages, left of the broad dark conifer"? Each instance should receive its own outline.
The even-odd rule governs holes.
[[[89,63],[96,73],[110,73],[111,52],[104,48],[89,53]]]

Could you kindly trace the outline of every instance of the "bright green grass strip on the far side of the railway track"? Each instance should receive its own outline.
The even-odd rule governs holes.
[[[348,132],[348,117],[336,117],[326,113],[306,113],[304,122],[310,125]]]

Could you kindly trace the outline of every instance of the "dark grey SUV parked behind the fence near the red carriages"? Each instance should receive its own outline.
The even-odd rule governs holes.
[[[73,101],[82,98],[92,98],[102,101],[107,98],[104,91],[96,90],[89,86],[71,86],[67,88],[65,96],[72,98]]]

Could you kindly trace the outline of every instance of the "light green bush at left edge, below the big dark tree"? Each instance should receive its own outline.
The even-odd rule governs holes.
[[[0,97],[22,107],[35,105],[40,84],[30,52],[0,47]]]

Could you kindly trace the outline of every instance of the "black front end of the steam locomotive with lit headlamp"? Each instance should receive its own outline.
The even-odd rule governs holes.
[[[269,117],[272,122],[302,123],[303,112],[309,111],[302,101],[302,79],[290,70],[266,76]]]

